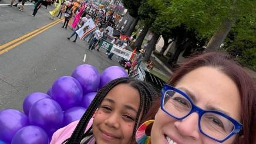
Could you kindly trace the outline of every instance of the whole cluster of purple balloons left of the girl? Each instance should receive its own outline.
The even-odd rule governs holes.
[[[47,94],[34,92],[23,101],[23,112],[0,111],[0,144],[48,144],[59,128],[79,120],[97,94],[110,81],[128,77],[119,66],[106,68],[102,74],[83,64],[71,76],[58,78]]]

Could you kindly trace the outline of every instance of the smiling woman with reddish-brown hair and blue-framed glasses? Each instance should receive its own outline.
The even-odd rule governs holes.
[[[164,85],[161,104],[147,115],[154,118],[145,123],[153,122],[151,143],[255,143],[255,93],[255,81],[224,54],[195,57]]]

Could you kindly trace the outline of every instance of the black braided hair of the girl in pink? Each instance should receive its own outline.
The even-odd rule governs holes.
[[[96,109],[102,103],[103,99],[106,97],[107,93],[118,84],[129,84],[133,88],[136,88],[136,90],[138,90],[140,94],[140,106],[139,106],[139,111],[136,117],[134,129],[133,129],[133,137],[134,137],[136,133],[136,129],[140,124],[139,123],[140,112],[142,112],[142,109],[143,109],[142,117],[147,114],[151,106],[151,102],[157,96],[157,94],[156,94],[156,91],[154,91],[154,88],[150,84],[147,84],[143,81],[134,80],[133,78],[123,77],[123,78],[117,78],[116,80],[110,81],[110,83],[106,84],[102,89],[100,89],[97,92],[97,95],[95,96],[95,98],[93,99],[89,107],[87,108],[85,114],[83,114],[78,125],[76,126],[75,131],[73,131],[70,138],[66,139],[63,143],[79,144],[80,141],[85,136],[89,135],[89,132],[92,129],[92,126],[89,128],[89,130],[86,133],[84,133],[87,124],[89,123]]]

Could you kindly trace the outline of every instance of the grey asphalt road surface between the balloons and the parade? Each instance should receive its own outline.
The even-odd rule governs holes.
[[[0,1],[0,46],[52,22],[48,17],[53,6],[42,6],[36,17],[31,17],[32,5],[19,12],[17,8],[1,5],[8,3]],[[46,92],[53,81],[70,76],[80,64],[92,64],[100,72],[109,66],[119,66],[115,56],[113,60],[107,59],[105,50],[90,52],[86,42],[67,40],[72,30],[61,26],[62,22],[0,55],[0,110],[22,110],[26,95]]]

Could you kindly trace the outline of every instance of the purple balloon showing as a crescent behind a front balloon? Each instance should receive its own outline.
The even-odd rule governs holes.
[[[42,93],[42,92],[34,92],[34,93],[26,96],[26,98],[23,102],[24,113],[26,115],[28,115],[29,110],[31,109],[32,105],[35,104],[35,102],[42,100],[43,98],[50,98],[50,96],[45,93]]]

